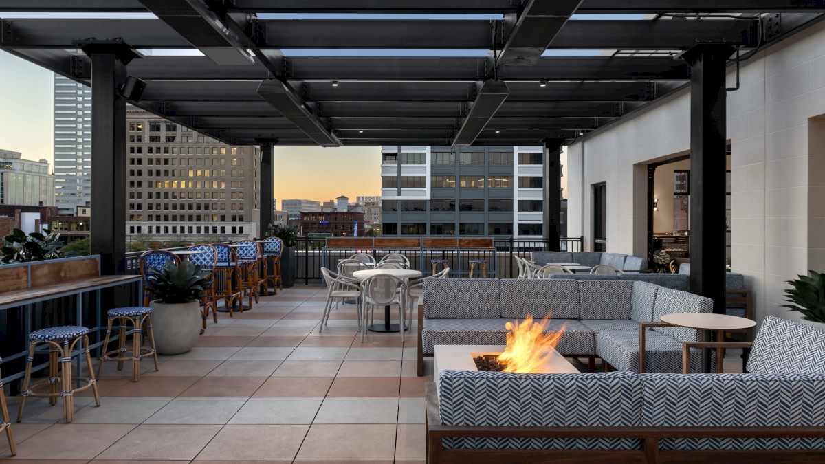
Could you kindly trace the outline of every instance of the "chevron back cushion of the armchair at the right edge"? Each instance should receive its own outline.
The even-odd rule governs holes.
[[[747,372],[754,374],[825,372],[825,330],[766,316],[753,340]]]

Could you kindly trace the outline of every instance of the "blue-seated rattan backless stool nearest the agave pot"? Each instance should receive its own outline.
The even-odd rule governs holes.
[[[104,353],[101,356],[101,362],[97,365],[97,377],[101,376],[103,370],[103,362],[117,361],[117,370],[123,370],[123,362],[132,362],[132,381],[140,379],[140,359],[144,356],[152,355],[155,362],[155,372],[158,369],[158,352],[154,348],[154,333],[152,332],[152,308],[144,306],[130,306],[127,308],[115,308],[109,310],[109,327],[106,329],[106,339],[103,341]],[[111,335],[111,327],[117,321],[120,334],[117,338],[117,349],[106,351],[109,348],[109,336]],[[126,335],[129,329],[126,324],[132,324],[132,355],[125,357],[126,349]],[[146,334],[148,335],[148,347],[143,347],[144,338],[144,324],[146,325]]]

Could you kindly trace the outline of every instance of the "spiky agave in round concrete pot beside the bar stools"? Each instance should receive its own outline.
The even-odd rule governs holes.
[[[155,348],[161,354],[191,350],[200,335],[200,296],[212,285],[210,278],[189,261],[166,263],[146,277],[146,289],[156,300],[152,307]]]

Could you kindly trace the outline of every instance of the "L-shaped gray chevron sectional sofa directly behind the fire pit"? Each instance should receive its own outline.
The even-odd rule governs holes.
[[[712,312],[707,298],[648,282],[573,279],[425,279],[419,310],[418,375],[436,344],[505,344],[508,320],[552,315],[549,331],[566,324],[556,347],[570,357],[596,357],[620,371],[639,372],[639,324],[662,315]],[[645,372],[681,372],[682,343],[698,330],[647,329]],[[700,350],[691,372],[701,368]]]

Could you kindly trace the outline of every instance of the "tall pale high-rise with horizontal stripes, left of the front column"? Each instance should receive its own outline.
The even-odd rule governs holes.
[[[54,204],[73,215],[92,201],[92,89],[54,74]]]

